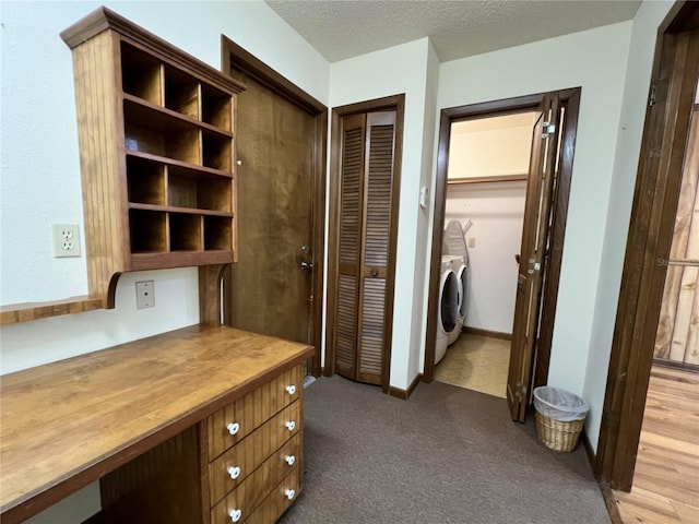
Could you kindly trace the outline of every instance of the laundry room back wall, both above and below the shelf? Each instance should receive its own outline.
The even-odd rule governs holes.
[[[526,175],[536,112],[452,123],[448,179]],[[526,181],[450,183],[445,226],[471,221],[470,289],[464,325],[512,333]]]

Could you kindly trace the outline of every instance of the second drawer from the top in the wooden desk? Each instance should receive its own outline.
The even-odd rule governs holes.
[[[212,507],[298,433],[300,416],[300,403],[295,402],[209,464]],[[286,449],[286,445],[282,449]],[[280,462],[292,467],[300,458],[298,453],[299,450],[291,450]]]

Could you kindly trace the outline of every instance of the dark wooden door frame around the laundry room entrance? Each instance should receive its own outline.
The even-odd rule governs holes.
[[[534,368],[534,386],[544,385],[548,378],[550,360],[550,344],[556,317],[558,298],[558,282],[560,278],[560,263],[562,260],[564,239],[566,236],[566,221],[568,216],[568,199],[570,195],[570,179],[572,177],[572,160],[576,148],[578,129],[578,114],[582,88],[572,87],[558,91],[561,105],[566,107],[564,121],[560,168],[558,175],[558,190],[556,193],[554,222],[550,228],[550,257],[545,267],[545,283],[543,289],[543,305],[541,310],[542,331],[537,349],[536,366]],[[443,237],[445,210],[447,204],[447,167],[449,164],[449,141],[451,124],[475,117],[502,116],[508,114],[536,110],[546,93],[518,96],[500,100],[451,107],[441,110],[439,120],[439,145],[437,150],[437,180],[435,184],[435,215],[433,221],[433,245],[430,253],[429,293],[427,306],[427,330],[425,340],[425,364],[423,382],[435,380],[435,344],[437,342],[437,308],[439,307],[439,267],[441,243]],[[513,298],[514,299],[514,298]]]

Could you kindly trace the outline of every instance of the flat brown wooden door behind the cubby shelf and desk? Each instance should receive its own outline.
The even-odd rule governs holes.
[[[316,117],[256,78],[238,99],[238,253],[225,323],[313,343]]]

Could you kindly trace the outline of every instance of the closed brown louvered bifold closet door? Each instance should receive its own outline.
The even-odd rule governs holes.
[[[381,384],[395,112],[344,119],[335,370]]]

